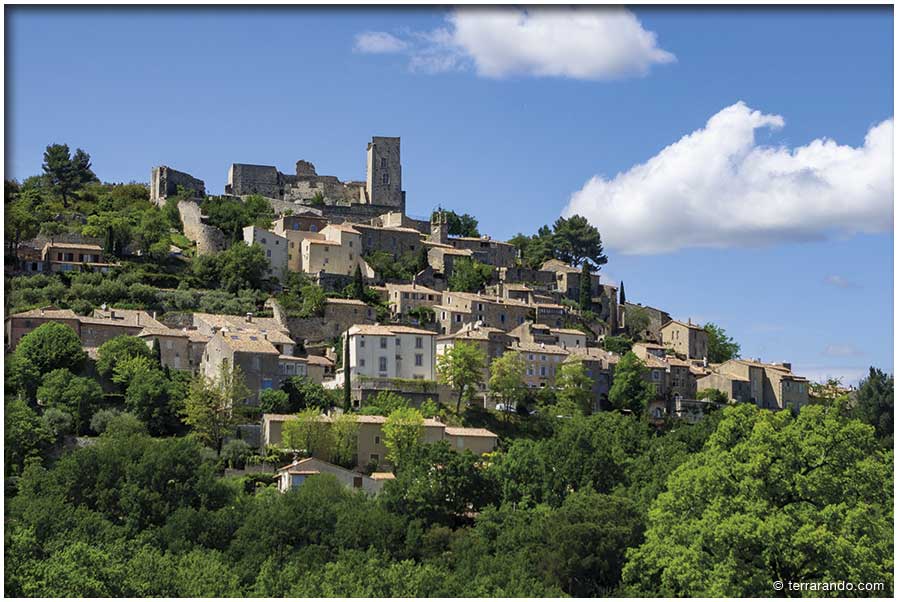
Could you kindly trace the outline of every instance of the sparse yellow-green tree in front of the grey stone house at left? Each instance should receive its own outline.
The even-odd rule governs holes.
[[[223,362],[215,380],[197,376],[191,381],[181,412],[184,423],[200,442],[220,455],[224,438],[239,423],[239,406],[249,396],[240,366]]]

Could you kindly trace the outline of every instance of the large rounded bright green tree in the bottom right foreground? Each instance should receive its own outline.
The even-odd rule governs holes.
[[[892,452],[807,406],[728,407],[652,503],[625,595],[778,596],[775,582],[882,582],[892,593]],[[794,593],[794,592],[793,592]]]

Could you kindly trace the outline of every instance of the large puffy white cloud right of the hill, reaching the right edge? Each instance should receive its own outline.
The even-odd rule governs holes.
[[[563,214],[587,217],[607,247],[634,254],[891,230],[892,119],[860,147],[756,143],[756,130],[784,125],[740,101],[645,163],[594,176]]]

